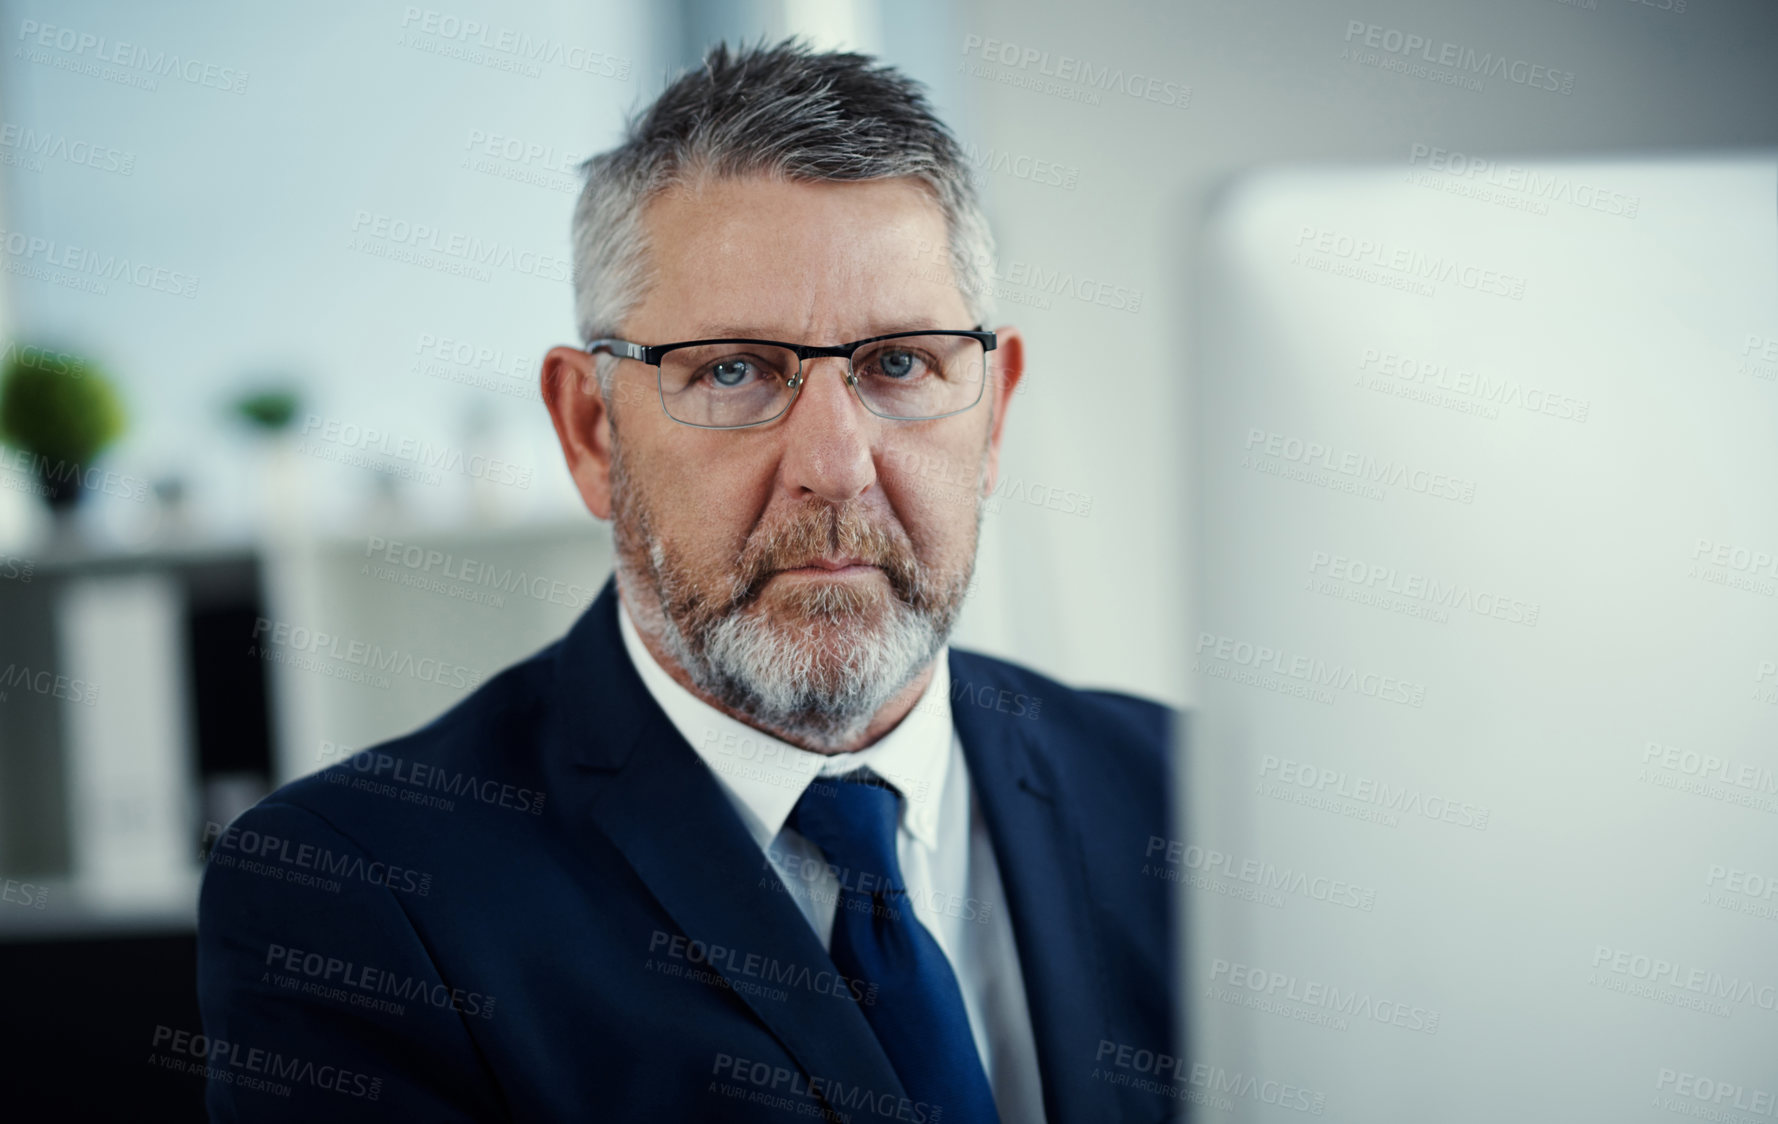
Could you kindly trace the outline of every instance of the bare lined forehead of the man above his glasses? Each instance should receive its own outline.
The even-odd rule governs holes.
[[[656,194],[644,229],[649,286],[631,320],[638,334],[750,327],[770,338],[861,338],[907,325],[973,327],[944,212],[919,180],[701,178]]]

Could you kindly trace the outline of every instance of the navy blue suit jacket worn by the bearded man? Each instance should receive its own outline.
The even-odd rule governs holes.
[[[612,582],[430,726],[212,832],[215,1120],[928,1120],[637,676]],[[1053,1124],[1154,1120],[1172,713],[951,651]],[[830,1113],[825,1115],[823,1113]],[[942,1113],[941,1113],[942,1124]],[[1017,1124],[1008,1120],[1006,1124]]]

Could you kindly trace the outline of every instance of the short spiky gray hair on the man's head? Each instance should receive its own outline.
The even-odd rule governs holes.
[[[574,206],[574,320],[581,341],[617,334],[649,285],[642,212],[704,178],[912,176],[944,212],[951,270],[976,324],[994,317],[994,235],[962,148],[917,82],[868,55],[798,39],[731,53],[718,43],[635,114],[624,142],[581,164]],[[599,363],[605,382],[612,365]]]

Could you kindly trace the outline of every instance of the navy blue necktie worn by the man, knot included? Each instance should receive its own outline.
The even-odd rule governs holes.
[[[816,777],[789,815],[839,879],[829,955],[841,973],[878,985],[877,1001],[861,1008],[909,1097],[941,1108],[944,1124],[997,1124],[957,975],[907,898],[896,800],[861,768]]]

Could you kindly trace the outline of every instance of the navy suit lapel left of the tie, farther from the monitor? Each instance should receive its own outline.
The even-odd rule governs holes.
[[[574,758],[564,815],[603,832],[686,937],[772,957],[781,966],[832,971],[832,959],[777,879],[740,815],[629,663],[617,631],[617,592],[599,599],[558,653],[562,726]],[[597,731],[597,733],[594,733]],[[578,774],[580,784],[573,783]],[[905,1096],[857,1003],[786,987],[782,1001],[749,994],[734,960],[711,962],[797,1062],[832,1083]]]

